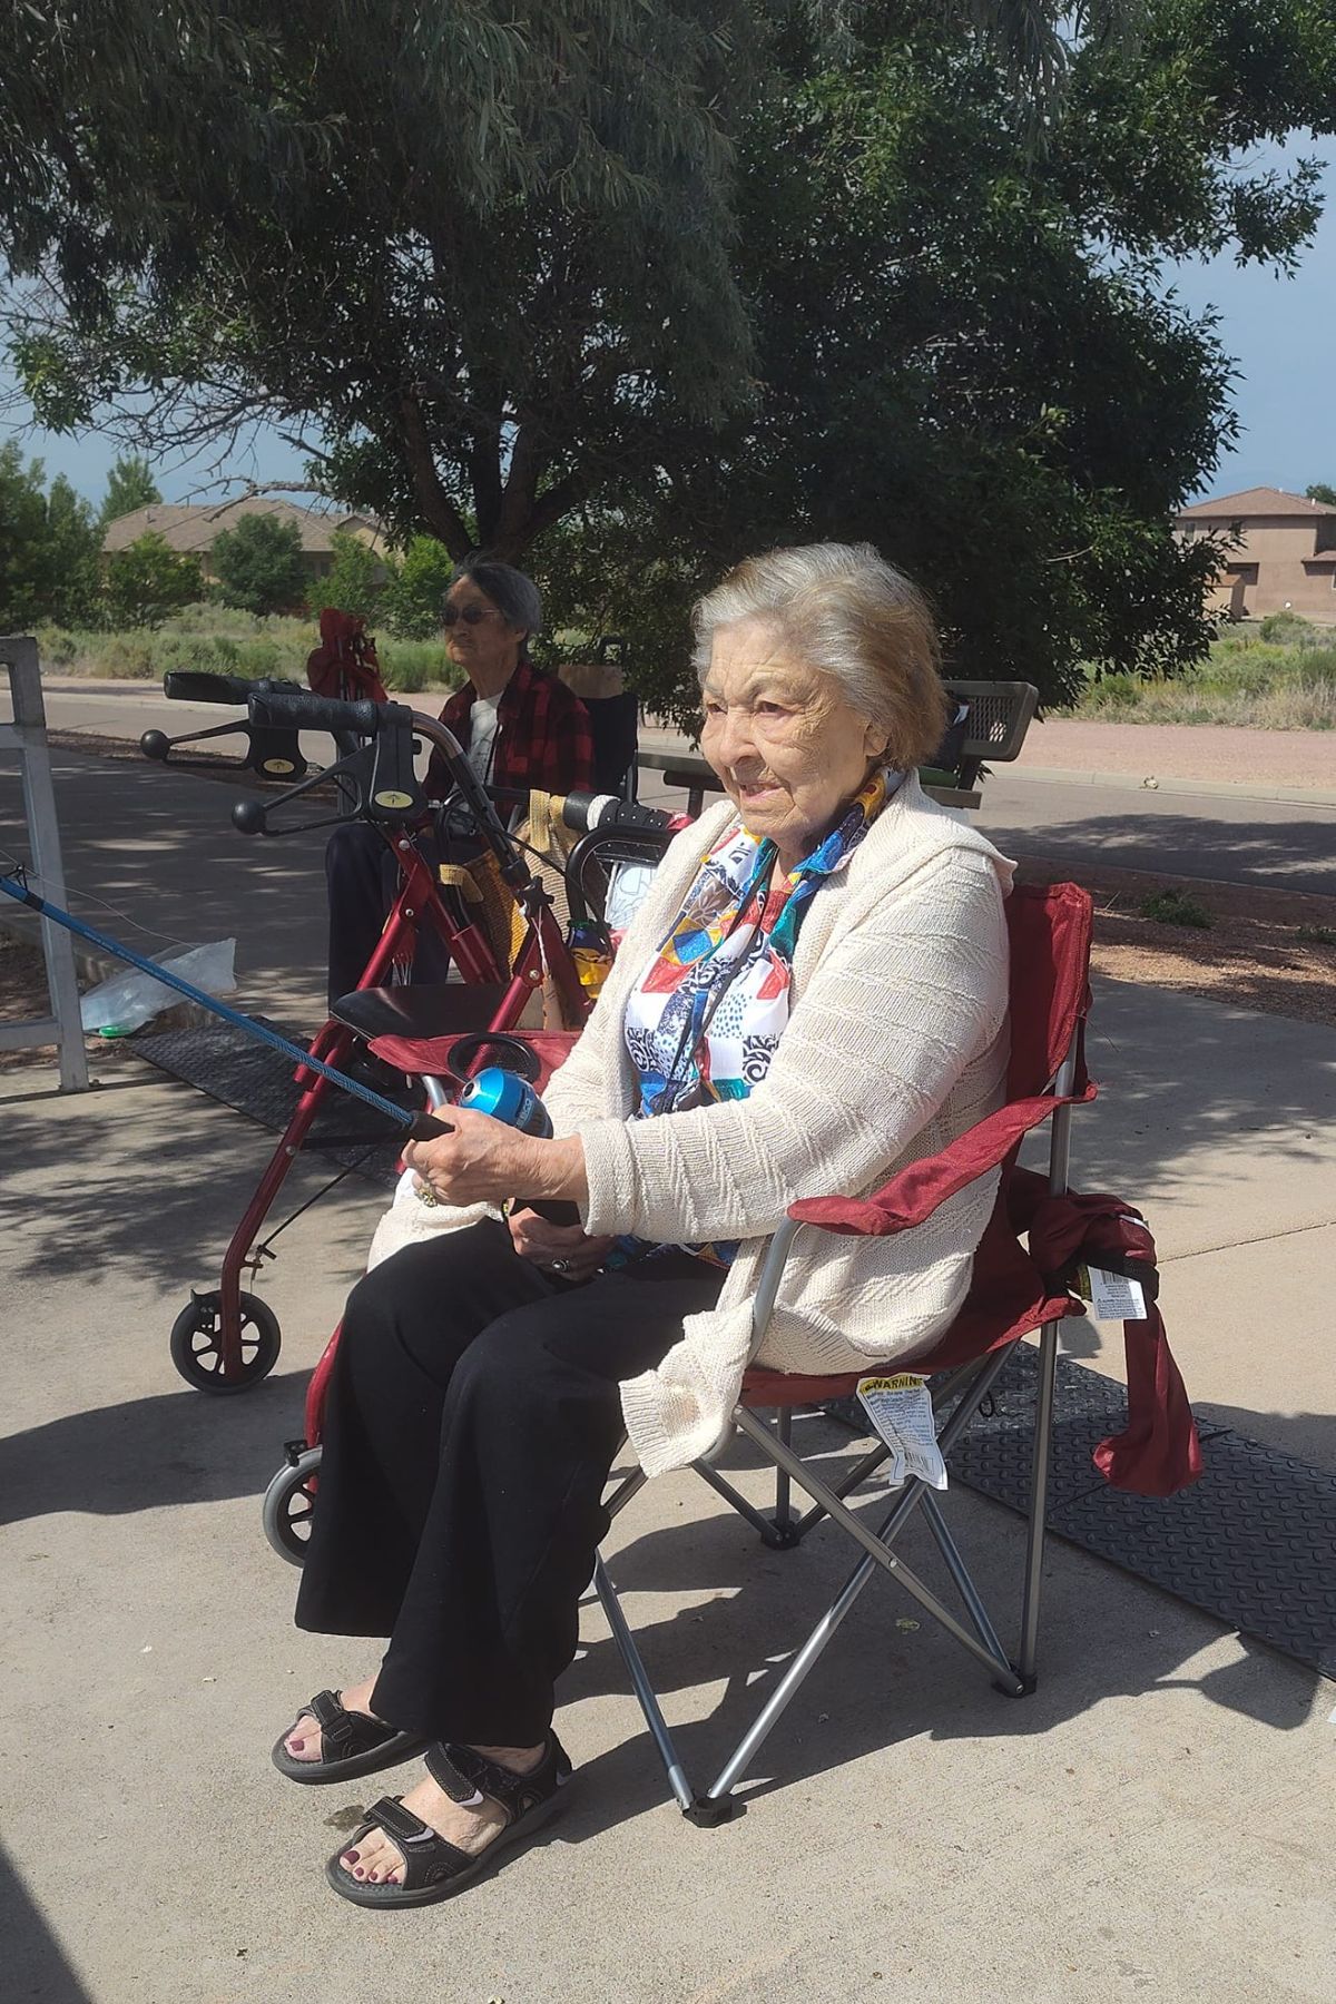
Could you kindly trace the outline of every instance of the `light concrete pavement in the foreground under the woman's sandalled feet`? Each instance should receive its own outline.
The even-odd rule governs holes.
[[[292,1629],[256,1497],[379,1198],[345,1186],[292,1228],[264,1283],[276,1377],[204,1399],[166,1329],[266,1136],[128,1066],[78,1100],[10,1074],[0,1122],[6,1996],[1116,2004],[1132,1986],[1326,2004],[1336,1687],[1062,1545],[1034,1697],[995,1695],[875,1581],[717,1832],[665,1800],[589,1611],[561,1715],[577,1790],[551,1842],[445,1908],[341,1904],[322,1858],[405,1778],[294,1790],[268,1766],[302,1699],[369,1651]],[[825,1451],[839,1467],[847,1435],[827,1429]],[[1014,1589],[1018,1521],[947,1505],[985,1589]],[[685,1751],[711,1768],[847,1547],[767,1553],[671,1477],[613,1551]],[[925,1535],[907,1557],[931,1573]]]

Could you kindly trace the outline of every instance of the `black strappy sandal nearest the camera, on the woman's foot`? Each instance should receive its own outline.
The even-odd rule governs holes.
[[[533,1774],[511,1774],[509,1768],[497,1768],[473,1747],[449,1741],[427,1749],[427,1774],[451,1802],[471,1802],[475,1794],[489,1796],[505,1812],[505,1828],[485,1852],[471,1856],[435,1832],[413,1810],[405,1810],[399,1796],[385,1796],[367,1810],[349,1842],[335,1852],[324,1868],[326,1880],[341,1898],[353,1900],[355,1906],[391,1908],[431,1906],[435,1900],[449,1900],[463,1892],[465,1886],[473,1886],[487,1872],[493,1872],[503,1852],[529,1840],[565,1810],[563,1790],[571,1780],[571,1762],[557,1733],[547,1735],[543,1760]],[[357,1880],[343,1866],[343,1858],[357,1850],[373,1830],[383,1830],[399,1846],[405,1866],[403,1884]]]

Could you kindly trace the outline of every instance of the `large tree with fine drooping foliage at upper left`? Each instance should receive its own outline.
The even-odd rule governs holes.
[[[943,12],[1050,82],[1118,6]],[[915,20],[915,0],[240,0],[220,34],[204,0],[10,10],[0,230],[48,287],[20,369],[48,425],[148,379],[136,437],[270,419],[401,535],[523,555],[665,427],[747,405],[737,136],[789,40],[861,60],[849,22],[877,44]]]

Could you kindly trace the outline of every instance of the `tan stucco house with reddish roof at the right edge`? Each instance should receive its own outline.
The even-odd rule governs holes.
[[[1208,605],[1230,619],[1294,611],[1336,625],[1336,509],[1280,487],[1244,487],[1196,501],[1176,517],[1178,535],[1230,539]]]

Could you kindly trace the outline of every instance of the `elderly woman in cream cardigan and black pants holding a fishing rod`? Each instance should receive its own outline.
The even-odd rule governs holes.
[[[425,1751],[328,1862],[365,1906],[459,1892],[561,1804],[553,1687],[613,1457],[629,1435],[657,1475],[727,1433],[787,1206],[871,1190],[1001,1104],[1010,864],[915,778],[945,707],[921,595],[869,545],[781,549],[695,631],[727,802],[667,852],[549,1086],[555,1138],[455,1112],[415,1142],[349,1299],[296,1621],[389,1649],[274,1762],[332,1782]],[[891,1238],[799,1236],[761,1361],[929,1349],[993,1192]]]

